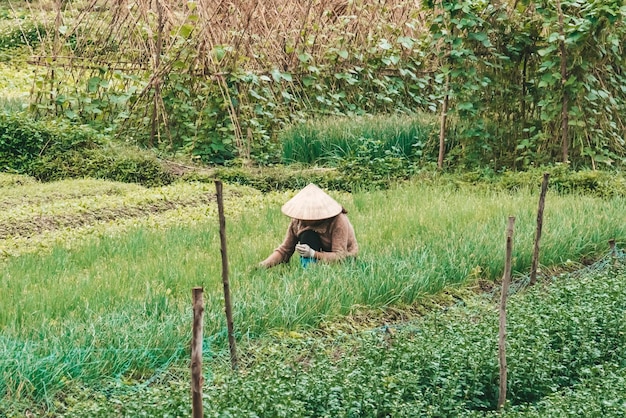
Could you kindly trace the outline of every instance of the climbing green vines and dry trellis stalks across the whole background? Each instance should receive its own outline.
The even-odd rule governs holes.
[[[153,34],[158,37],[145,52],[157,58],[140,59],[141,71],[115,61],[96,64],[79,83],[64,82],[74,77],[71,66],[48,62],[35,110],[112,124],[125,136],[132,127],[130,139],[139,144],[206,162],[239,155],[270,163],[280,159],[276,138],[286,124],[324,115],[437,116],[447,98],[447,164],[495,170],[565,160],[592,168],[621,165],[626,7],[613,0],[514,5],[443,0],[418,10],[409,1],[387,8],[357,1],[331,11],[314,2],[319,25],[305,10],[291,16],[301,19],[308,37],[301,38],[301,30],[282,34],[280,53],[263,49],[280,34],[255,32],[255,10],[240,11],[241,27],[219,31],[210,18],[221,10],[207,15],[185,5],[176,20],[159,7],[133,4],[145,14],[144,30],[129,32],[128,20],[120,19],[125,12],[115,5],[83,10],[70,30],[74,9],[67,7],[65,25],[48,31],[58,36],[55,54],[96,63],[137,59],[138,45],[148,48],[145,40]],[[103,19],[111,30],[99,30]],[[97,38],[104,34],[108,38]],[[257,42],[262,36],[267,43]],[[52,42],[42,45],[42,54],[50,55],[45,47]],[[53,80],[58,83],[49,91]],[[429,147],[432,155],[437,145]]]

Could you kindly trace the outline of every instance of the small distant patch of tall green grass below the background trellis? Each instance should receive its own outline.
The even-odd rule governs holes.
[[[324,118],[293,125],[282,131],[283,160],[332,164],[354,155],[363,139],[381,141],[384,150],[405,156],[419,154],[433,140],[432,117],[423,114]]]

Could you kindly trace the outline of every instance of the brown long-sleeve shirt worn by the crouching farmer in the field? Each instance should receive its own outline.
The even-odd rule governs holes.
[[[355,257],[359,251],[354,228],[345,213],[315,224],[292,219],[283,243],[261,264],[271,267],[288,262],[298,244],[298,237],[307,230],[317,232],[322,241],[322,251],[315,252],[315,258],[318,260],[343,260],[346,257]]]

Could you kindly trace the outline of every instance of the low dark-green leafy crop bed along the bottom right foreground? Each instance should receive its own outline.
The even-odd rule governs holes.
[[[549,291],[536,286],[509,298],[501,413],[494,299],[459,292],[455,305],[401,324],[247,344],[237,373],[227,353],[212,353],[205,416],[622,416],[625,278],[623,263],[605,259],[583,274],[553,277]],[[174,365],[143,383],[71,381],[49,415],[39,410],[66,418],[187,416],[189,397],[188,371]],[[19,410],[13,402],[8,411]]]

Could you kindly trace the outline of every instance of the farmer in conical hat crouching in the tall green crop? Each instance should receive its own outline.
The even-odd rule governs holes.
[[[347,211],[322,189],[311,183],[282,207],[291,218],[283,243],[260,265],[288,263],[294,252],[300,262],[338,261],[355,257],[359,251]]]

